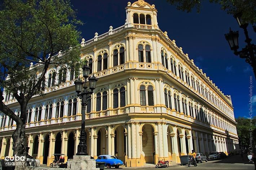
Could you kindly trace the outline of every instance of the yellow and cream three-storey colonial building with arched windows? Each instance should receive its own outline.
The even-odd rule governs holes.
[[[125,24],[81,42],[97,87],[87,106],[88,154],[115,155],[126,166],[180,162],[196,152],[233,152],[238,136],[231,97],[220,89],[160,30],[155,5],[127,3]],[[61,53],[59,54],[62,55]],[[36,65],[31,64],[31,69]],[[27,108],[29,154],[41,164],[54,153],[72,158],[77,152],[81,104],[74,70],[50,68],[45,95],[34,96]],[[59,83],[59,86],[54,84]],[[5,94],[5,104],[19,115],[18,102]],[[0,156],[12,156],[15,122],[0,119]]]

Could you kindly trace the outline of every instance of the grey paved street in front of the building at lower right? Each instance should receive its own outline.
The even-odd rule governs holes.
[[[213,160],[203,163],[198,163],[198,167],[188,167],[181,166],[181,165],[171,165],[168,168],[165,168],[165,170],[171,170],[171,169],[177,169],[177,170],[254,170],[254,165],[248,163],[249,160],[247,159],[247,156],[244,155],[244,160],[241,160],[240,155],[230,156],[228,158],[225,158],[223,160]],[[123,168],[126,169],[127,167]],[[151,169],[154,168],[154,166],[147,166],[143,169]],[[138,168],[127,168],[127,169],[138,169]]]

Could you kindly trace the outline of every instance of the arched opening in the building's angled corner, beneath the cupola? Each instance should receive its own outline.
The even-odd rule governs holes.
[[[142,154],[144,155],[145,162],[154,164],[155,155],[155,140],[154,129],[150,124],[145,124],[142,127]]]

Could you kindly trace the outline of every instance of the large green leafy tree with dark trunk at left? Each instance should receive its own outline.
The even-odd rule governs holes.
[[[44,93],[48,68],[80,67],[81,22],[69,0],[1,0],[0,20],[0,111],[16,121],[14,155],[26,157],[28,102]],[[5,105],[4,93],[17,100],[19,117]],[[22,162],[16,169],[26,166]]]

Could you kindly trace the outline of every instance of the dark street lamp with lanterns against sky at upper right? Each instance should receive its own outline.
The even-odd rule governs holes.
[[[251,41],[252,39],[249,38],[248,36],[248,31],[247,31],[247,26],[248,23],[247,22],[243,22],[242,18],[241,18],[241,14],[237,14],[234,16],[235,19],[238,22],[238,25],[240,28],[243,28],[244,30],[244,34],[246,37],[245,42],[247,43],[247,45],[241,50],[241,51],[237,51],[239,46],[238,46],[238,31],[232,31],[230,28],[229,33],[225,34],[226,40],[229,43],[230,49],[234,50],[234,54],[235,55],[239,55],[240,58],[245,59],[246,63],[249,63],[252,66],[255,78],[256,78],[256,58],[255,58],[255,54],[256,54],[256,45],[252,44]],[[254,31],[255,27],[253,27]]]

